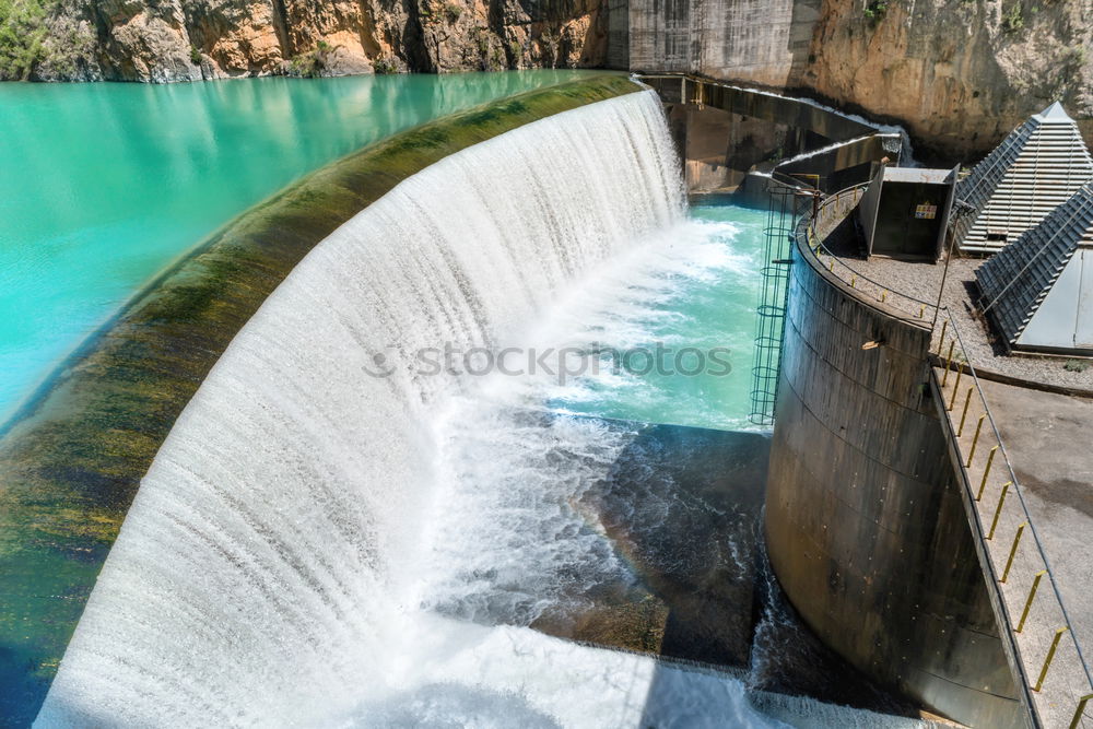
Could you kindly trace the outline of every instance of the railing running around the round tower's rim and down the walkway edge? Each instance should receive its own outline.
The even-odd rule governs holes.
[[[950,439],[964,477],[974,536],[994,583],[996,604],[1011,635],[1030,709],[1047,727],[1093,729],[1093,671],[1074,635],[1043,541],[987,402],[963,336],[948,307],[894,291],[834,254],[826,238],[858,204],[866,185],[820,202],[801,220],[798,239],[814,263],[886,314],[931,328],[931,377],[941,396]],[[806,236],[801,238],[801,236]],[[974,517],[974,518],[973,518]],[[1045,580],[1046,578],[1046,580]],[[1049,588],[1049,589],[1048,589]]]

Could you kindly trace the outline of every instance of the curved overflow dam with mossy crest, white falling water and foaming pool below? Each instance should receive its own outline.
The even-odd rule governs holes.
[[[916,726],[765,571],[765,215],[689,212],[679,164],[653,91],[548,86],[167,269],[4,435],[4,716]]]

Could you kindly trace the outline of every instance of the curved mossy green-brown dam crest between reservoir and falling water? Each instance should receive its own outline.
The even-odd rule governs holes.
[[[308,250],[451,152],[638,90],[613,74],[562,84],[351,154],[230,223],[61,365],[0,438],[0,589],[10,596],[0,714],[33,717],[140,478],[228,342]]]

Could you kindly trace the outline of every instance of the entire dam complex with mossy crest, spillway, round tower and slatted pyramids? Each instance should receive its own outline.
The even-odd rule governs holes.
[[[1083,726],[1078,127],[680,61],[319,144],[28,366],[3,724]]]

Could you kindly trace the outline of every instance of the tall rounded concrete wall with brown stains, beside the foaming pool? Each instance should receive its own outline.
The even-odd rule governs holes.
[[[964,724],[1022,726],[926,386],[930,331],[792,248],[766,505],[778,580],[882,684]]]

